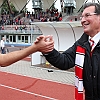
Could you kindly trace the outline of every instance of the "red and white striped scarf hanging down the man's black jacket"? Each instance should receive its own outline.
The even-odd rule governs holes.
[[[83,64],[85,49],[81,46],[76,48],[75,59],[75,100],[83,100]]]

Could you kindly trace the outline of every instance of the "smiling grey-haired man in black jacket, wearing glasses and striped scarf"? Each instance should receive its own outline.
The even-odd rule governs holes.
[[[97,3],[86,3],[83,8],[81,24],[84,33],[72,47],[62,54],[55,49],[44,48],[46,59],[55,67],[66,70],[76,67],[76,90],[79,97],[82,84],[85,90],[85,100],[100,100],[100,5]],[[35,43],[45,36],[37,38]],[[93,44],[90,46],[90,39]],[[52,40],[52,39],[51,39]],[[92,49],[92,50],[91,50]],[[48,52],[49,50],[49,52]],[[48,53],[47,53],[48,52]],[[81,98],[81,99],[79,99]]]

